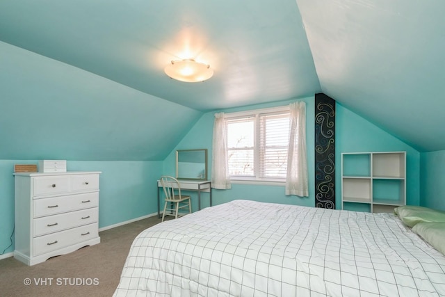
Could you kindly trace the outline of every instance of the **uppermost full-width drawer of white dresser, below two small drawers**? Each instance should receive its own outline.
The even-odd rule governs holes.
[[[33,200],[34,218],[99,206],[99,192]]]

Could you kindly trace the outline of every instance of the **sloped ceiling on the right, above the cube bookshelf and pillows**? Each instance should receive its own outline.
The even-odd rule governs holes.
[[[445,150],[445,1],[297,2],[323,93],[419,151]]]

